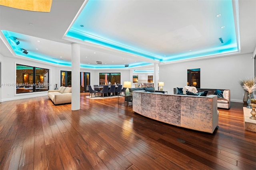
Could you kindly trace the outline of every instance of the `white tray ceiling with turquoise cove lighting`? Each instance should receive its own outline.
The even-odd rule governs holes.
[[[106,0],[96,2],[97,9],[89,8],[88,3],[85,5],[84,11],[87,13],[84,11],[79,13],[80,8],[83,7],[83,0],[53,0],[50,13],[0,6],[0,29],[11,31],[12,36],[20,41],[18,46],[26,49],[29,54],[36,54],[55,63],[71,62],[71,43],[77,42],[81,44],[80,63],[84,67],[96,68],[99,66],[96,61],[101,61],[102,66],[107,66],[106,68],[130,64],[134,65],[132,68],[136,70],[152,69],[154,63],[161,65],[172,62],[162,63],[140,55],[72,39],[65,37],[65,33],[73,23],[74,27],[79,24],[76,27],[80,29],[79,31],[84,29],[94,37],[98,36],[138,49],[156,58],[162,57],[163,60],[166,59],[164,55],[175,58],[176,55],[184,53],[192,55],[196,51],[218,48],[219,37],[224,41],[226,37],[229,38],[227,32],[229,25],[225,25],[227,8],[220,6],[223,1]],[[256,47],[256,1],[239,0],[238,7],[239,15],[238,20],[235,18],[235,23],[238,23],[237,33],[240,33],[237,34],[240,38],[240,53],[252,53]],[[90,15],[86,8],[90,9]],[[75,21],[77,14],[82,17]],[[217,18],[217,14],[222,16]],[[223,25],[225,28],[221,29]],[[2,55],[19,57],[14,54],[2,33],[0,42]],[[142,62],[151,65],[141,67]],[[131,67],[124,69],[129,68]]]

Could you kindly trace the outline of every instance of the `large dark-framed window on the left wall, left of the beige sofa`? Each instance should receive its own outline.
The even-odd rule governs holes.
[[[49,70],[16,64],[16,93],[49,90]]]

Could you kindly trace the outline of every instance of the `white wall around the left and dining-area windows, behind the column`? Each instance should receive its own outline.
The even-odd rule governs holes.
[[[60,70],[71,71],[71,67],[64,66],[52,66],[51,64],[42,64],[32,61],[25,61],[21,59],[15,59],[12,57],[5,57],[0,55],[0,61],[2,62],[2,88],[0,88],[0,100],[2,102],[9,100],[17,100],[23,98],[32,98],[37,96],[46,96],[47,92],[34,92],[34,93],[23,93],[16,94],[16,64],[23,64],[28,66],[36,66],[40,68],[49,69],[49,89],[53,90],[55,84],[60,87]],[[121,73],[121,84],[124,81],[130,81],[132,75],[130,70],[90,70],[80,69],[81,72],[90,72],[90,84],[99,84],[99,73],[100,72],[120,72]],[[8,85],[13,84],[13,85]],[[2,94],[1,94],[2,92]]]

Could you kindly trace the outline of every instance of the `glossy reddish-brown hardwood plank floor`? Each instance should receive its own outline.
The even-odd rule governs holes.
[[[242,103],[218,109],[219,127],[208,134],[142,117],[117,98],[85,96],[78,111],[47,96],[1,103],[0,169],[256,169]]]

